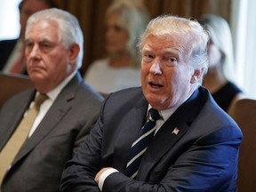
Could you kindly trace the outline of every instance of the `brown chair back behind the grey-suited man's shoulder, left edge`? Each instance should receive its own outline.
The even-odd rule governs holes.
[[[22,92],[33,84],[28,76],[7,75],[0,73],[0,108],[12,95]]]

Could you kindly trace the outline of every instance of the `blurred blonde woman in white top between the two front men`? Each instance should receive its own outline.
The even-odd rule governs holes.
[[[84,80],[101,93],[140,86],[137,43],[148,24],[148,11],[140,1],[118,0],[106,12],[105,48],[108,57],[95,60]]]

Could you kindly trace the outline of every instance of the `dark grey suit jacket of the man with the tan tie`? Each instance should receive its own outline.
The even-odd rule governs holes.
[[[9,100],[0,111],[0,150],[35,95],[34,89]],[[76,75],[60,92],[36,132],[7,172],[2,192],[58,192],[64,164],[100,116],[100,95]]]

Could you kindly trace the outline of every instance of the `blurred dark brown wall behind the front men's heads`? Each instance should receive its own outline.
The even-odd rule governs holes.
[[[131,0],[127,0],[131,1]],[[112,0],[56,0],[60,8],[73,13],[84,32],[84,74],[92,60],[104,57],[105,11]],[[231,0],[144,0],[152,18],[160,14],[199,19],[204,13],[230,20]]]

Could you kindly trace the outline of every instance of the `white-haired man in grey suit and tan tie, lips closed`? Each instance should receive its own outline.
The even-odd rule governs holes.
[[[25,43],[28,75],[36,89],[21,92],[1,108],[0,186],[2,192],[58,192],[64,164],[100,116],[102,97],[78,72],[84,37],[73,15],[53,8],[36,12],[28,20]],[[14,146],[11,140],[39,94],[48,99],[13,156],[6,148]],[[7,156],[13,160],[4,167]]]

